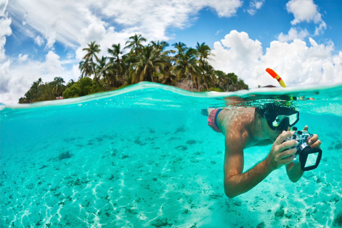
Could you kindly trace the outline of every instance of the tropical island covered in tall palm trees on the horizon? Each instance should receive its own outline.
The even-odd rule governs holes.
[[[172,44],[175,50],[165,51],[169,46],[166,41],[152,41],[144,46],[142,42],[145,41],[140,34],[135,34],[126,42],[126,46],[113,44],[107,50],[108,56],[100,58],[96,55],[101,51],[100,45],[93,41],[82,49],[87,53],[79,63],[81,75],[77,81],[71,79],[65,85],[61,77],[45,83],[39,78],[19,99],[19,103],[55,100],[61,96],[64,99],[85,96],[121,89],[141,81],[196,92],[248,89],[244,80],[235,73],[226,74],[209,65],[208,60],[213,54],[204,42],[197,42],[196,48],[178,42]]]

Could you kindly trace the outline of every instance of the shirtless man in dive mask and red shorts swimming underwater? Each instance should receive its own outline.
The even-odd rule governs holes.
[[[291,162],[298,145],[296,140],[284,142],[292,136],[288,131],[299,120],[299,113],[293,108],[269,104],[264,107],[238,109],[208,109],[208,125],[225,136],[224,192],[233,198],[259,184],[272,171],[285,165],[292,182],[303,175],[300,163]],[[303,131],[307,131],[306,125]],[[319,147],[318,135],[308,138],[308,145]],[[273,143],[273,144],[272,144]],[[272,144],[268,156],[245,173],[244,149],[252,146]],[[288,149],[288,150],[286,150]],[[285,151],[284,151],[285,150]],[[290,156],[289,158],[286,158]]]

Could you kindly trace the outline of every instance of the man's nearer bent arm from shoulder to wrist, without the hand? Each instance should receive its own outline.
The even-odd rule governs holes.
[[[245,193],[259,184],[272,172],[266,161],[255,165],[242,173],[244,169],[244,151],[248,139],[247,132],[226,133],[224,156],[224,192],[233,198]]]

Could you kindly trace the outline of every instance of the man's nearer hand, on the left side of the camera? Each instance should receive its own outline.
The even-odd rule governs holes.
[[[284,142],[284,139],[287,137],[291,137],[293,133],[293,131],[283,131],[273,143],[271,151],[269,151],[268,156],[265,159],[269,169],[271,169],[272,171],[279,169],[281,166],[288,164],[293,160],[294,154],[297,152],[297,149],[287,148],[297,146],[298,142],[296,140]],[[286,158],[288,156],[290,157]]]

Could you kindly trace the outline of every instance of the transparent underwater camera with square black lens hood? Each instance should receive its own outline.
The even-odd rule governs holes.
[[[292,162],[300,162],[300,167],[303,171],[316,169],[322,157],[322,150],[319,148],[312,148],[306,143],[307,137],[312,136],[310,133],[307,131],[297,131],[296,127],[293,127],[292,130],[294,131],[294,134],[284,140],[284,142],[289,140],[298,141],[297,146],[289,148],[297,149]]]

